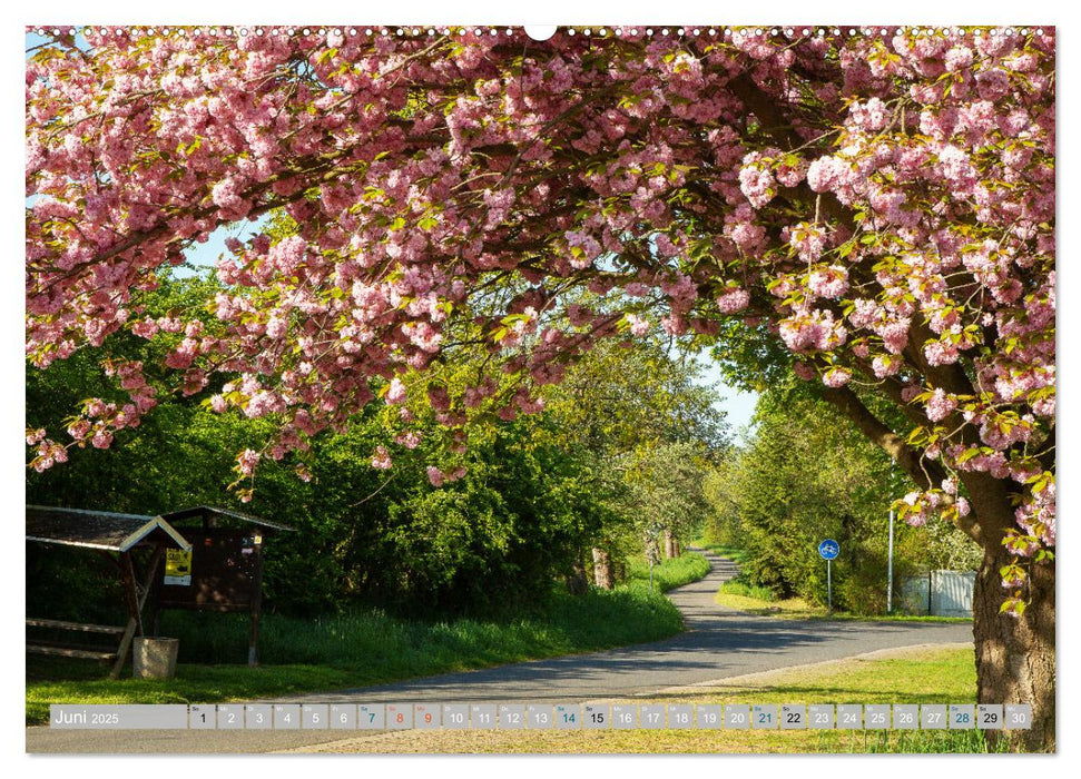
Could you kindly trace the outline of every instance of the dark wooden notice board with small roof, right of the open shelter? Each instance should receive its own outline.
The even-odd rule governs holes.
[[[263,550],[266,536],[295,529],[281,522],[228,509],[195,506],[163,515],[191,541],[184,561],[166,566],[156,589],[154,624],[165,609],[247,611],[248,664],[258,664],[259,619],[263,608]],[[181,555],[176,555],[178,559]]]

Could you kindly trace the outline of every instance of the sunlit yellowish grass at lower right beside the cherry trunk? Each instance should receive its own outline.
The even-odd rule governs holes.
[[[907,649],[770,671],[640,703],[973,703],[971,649]],[[404,731],[305,751],[350,752],[984,752],[981,731],[533,730]]]

